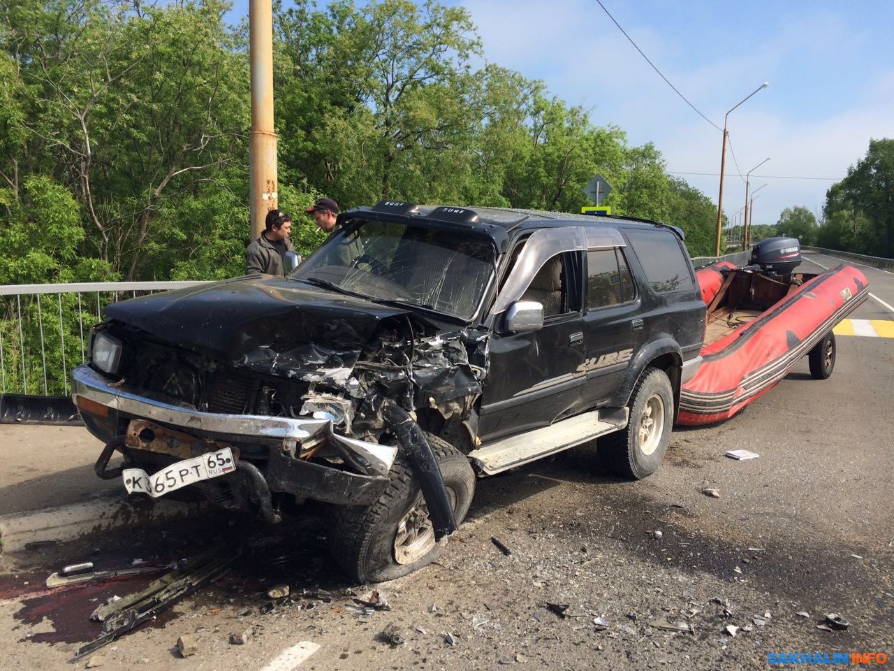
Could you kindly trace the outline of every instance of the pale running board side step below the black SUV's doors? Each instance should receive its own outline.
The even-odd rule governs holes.
[[[557,421],[543,429],[502,438],[468,453],[480,471],[495,475],[627,426],[628,408],[604,408]]]

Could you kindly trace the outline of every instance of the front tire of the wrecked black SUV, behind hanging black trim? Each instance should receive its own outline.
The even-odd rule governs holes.
[[[458,449],[431,434],[426,433],[426,438],[441,468],[444,485],[452,494],[453,516],[460,524],[475,494],[475,471]],[[417,561],[397,562],[394,540],[398,525],[417,502],[421,489],[409,461],[401,454],[388,477],[391,482],[375,504],[333,508],[329,551],[342,571],[357,582],[383,582],[412,573],[433,562],[447,544],[447,539],[441,539]]]

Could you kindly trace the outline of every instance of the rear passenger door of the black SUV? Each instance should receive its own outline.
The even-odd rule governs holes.
[[[645,339],[639,317],[641,297],[630,273],[624,247],[586,252],[583,319],[586,405],[608,400],[618,388],[630,359]]]

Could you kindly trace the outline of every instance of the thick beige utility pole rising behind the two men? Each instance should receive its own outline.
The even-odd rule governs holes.
[[[249,0],[251,65],[251,132],[249,184],[251,237],[264,230],[264,220],[279,205],[274,133],[274,13],[271,0]]]

